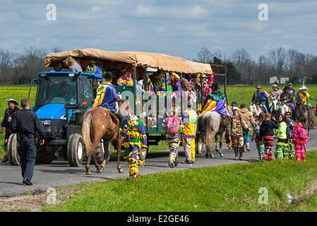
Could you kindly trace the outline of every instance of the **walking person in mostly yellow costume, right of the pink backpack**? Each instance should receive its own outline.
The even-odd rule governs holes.
[[[195,163],[195,139],[197,129],[197,114],[191,109],[189,102],[188,108],[181,114],[184,129],[182,132],[184,152],[186,160],[182,163],[193,164]]]

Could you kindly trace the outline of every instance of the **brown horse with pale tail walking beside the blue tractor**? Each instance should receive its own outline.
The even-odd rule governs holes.
[[[91,157],[95,160],[97,172],[102,172],[109,160],[109,143],[112,143],[116,148],[116,169],[121,173],[123,170],[120,166],[120,151],[122,145],[122,138],[119,136],[120,121],[114,114],[103,107],[96,109],[89,109],[83,115],[83,140],[85,142],[85,150],[87,155],[86,174],[90,175],[90,160]],[[114,118],[115,117],[115,118]],[[116,120],[116,122],[114,122]],[[96,150],[103,140],[104,145],[104,160],[97,162]]]

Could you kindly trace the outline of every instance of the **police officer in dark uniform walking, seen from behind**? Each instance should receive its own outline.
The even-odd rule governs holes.
[[[11,129],[13,133],[18,133],[18,155],[20,156],[23,184],[32,185],[31,179],[36,160],[35,135],[37,132],[39,133],[40,145],[44,145],[45,133],[40,119],[30,111],[30,101],[21,100],[21,107],[23,109],[11,122]]]

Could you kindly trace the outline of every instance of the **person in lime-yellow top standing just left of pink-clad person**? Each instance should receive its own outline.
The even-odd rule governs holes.
[[[287,134],[289,130],[287,129],[287,124],[289,124],[289,121],[284,115],[280,115],[279,119],[280,125],[277,129],[277,145],[275,148],[275,159],[279,158],[292,158],[289,153],[289,138],[292,136],[291,134]]]

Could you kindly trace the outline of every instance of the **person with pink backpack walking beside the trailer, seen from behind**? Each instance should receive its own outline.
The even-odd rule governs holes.
[[[169,144],[169,167],[177,167],[177,157],[179,156],[179,143],[181,142],[181,130],[183,124],[181,119],[177,117],[177,110],[174,108],[162,124],[162,129],[165,130],[166,140]]]

